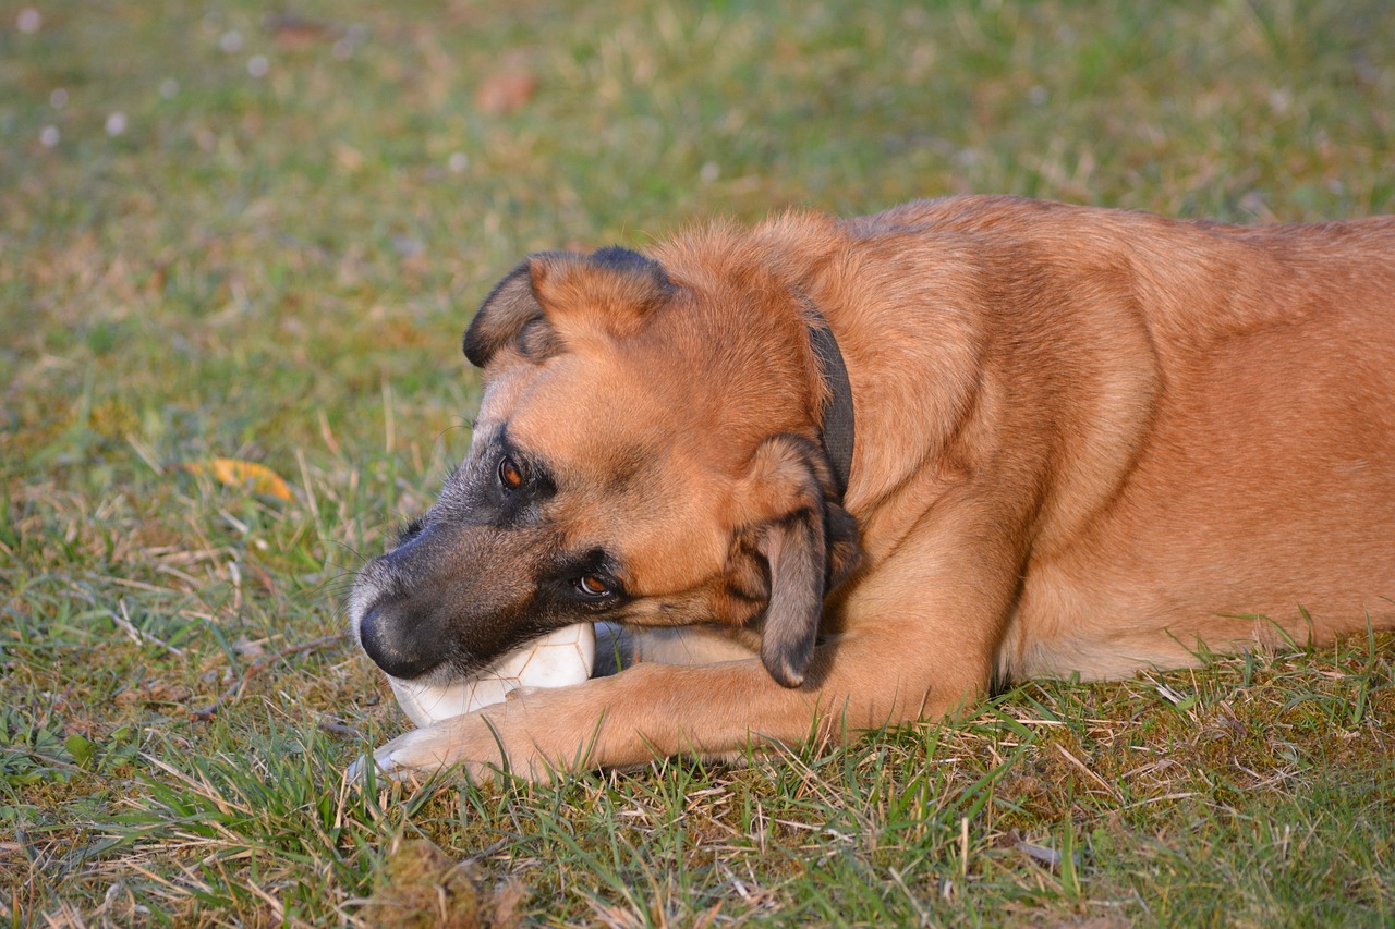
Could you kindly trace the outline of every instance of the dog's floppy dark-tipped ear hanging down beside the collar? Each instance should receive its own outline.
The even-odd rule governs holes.
[[[741,494],[756,544],[770,568],[770,601],[760,632],[760,661],[787,688],[804,683],[823,617],[823,598],[861,558],[857,520],[829,499],[831,474],[819,448],[776,435],[756,452]]]

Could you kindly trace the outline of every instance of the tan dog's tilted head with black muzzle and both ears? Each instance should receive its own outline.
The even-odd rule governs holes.
[[[537,254],[465,354],[485,375],[469,455],[350,601],[379,667],[463,677],[605,619],[749,626],[770,674],[802,682],[858,544],[790,287],[752,268],[679,280],[622,248]]]

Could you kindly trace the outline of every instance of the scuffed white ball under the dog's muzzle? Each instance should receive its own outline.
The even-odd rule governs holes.
[[[505,654],[473,678],[417,683],[388,677],[398,706],[416,725],[430,725],[499,703],[519,688],[565,688],[591,677],[596,629],[589,622],[562,626]]]

